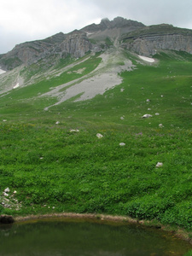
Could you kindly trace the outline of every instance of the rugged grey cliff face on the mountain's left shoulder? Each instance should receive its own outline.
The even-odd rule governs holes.
[[[44,40],[16,45],[9,53],[0,57],[0,67],[10,70],[20,65],[28,66],[39,60],[46,61],[53,55],[55,59],[66,55],[79,58],[90,49],[92,44],[84,32],[74,31],[67,35],[60,33]]]

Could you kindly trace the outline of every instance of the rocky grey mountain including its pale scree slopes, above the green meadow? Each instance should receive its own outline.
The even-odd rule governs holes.
[[[60,32],[44,40],[18,44],[7,54],[0,55],[0,93],[46,81],[45,84],[60,87],[44,85],[44,96],[55,96],[59,102],[77,95],[79,100],[90,99],[120,84],[119,73],[135,68],[126,55],[132,55],[133,59],[138,55],[153,57],[162,50],[192,54],[192,30],[167,24],[145,26],[122,17],[102,19],[100,24],[67,34]],[[98,62],[92,70],[85,67],[90,60]],[[82,62],[84,67],[78,68]],[[100,85],[96,86],[93,79]],[[91,92],[87,92],[85,84],[92,84]],[[66,86],[70,88],[65,90]]]

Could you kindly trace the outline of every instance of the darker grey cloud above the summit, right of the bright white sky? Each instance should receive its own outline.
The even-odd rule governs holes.
[[[109,17],[121,15],[127,19],[141,21],[146,25],[169,23],[188,26],[192,29],[191,0],[96,0],[102,14]]]

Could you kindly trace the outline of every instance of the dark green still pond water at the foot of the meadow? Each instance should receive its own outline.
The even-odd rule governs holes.
[[[0,226],[1,256],[157,256],[189,249],[162,230],[133,224],[54,219]]]

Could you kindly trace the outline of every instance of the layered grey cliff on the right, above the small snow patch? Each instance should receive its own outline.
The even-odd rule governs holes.
[[[160,49],[186,51],[192,54],[192,31],[170,25],[149,26],[130,33],[122,46],[138,55],[151,56]]]

